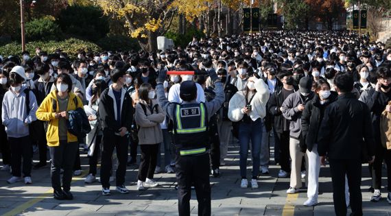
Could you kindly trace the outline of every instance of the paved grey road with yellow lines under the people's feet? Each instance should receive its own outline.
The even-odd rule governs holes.
[[[238,149],[237,145],[230,146],[226,166],[221,168],[221,177],[211,178],[212,215],[335,215],[328,167],[322,167],[320,171],[320,204],[306,207],[302,205],[307,200],[306,191],[303,189],[296,195],[287,196],[285,191],[289,187],[289,178],[276,178],[279,171],[276,165],[270,165],[270,174],[259,176],[259,189],[241,189]],[[34,155],[34,159],[37,158],[38,155]],[[111,187],[112,195],[102,196],[99,182],[84,184],[87,161],[86,155],[82,155],[84,172],[81,178],[73,178],[71,191],[75,199],[71,201],[53,199],[49,167],[33,170],[33,184],[28,186],[23,182],[7,184],[5,181],[10,174],[0,172],[0,215],[178,215],[175,174],[157,174],[155,180],[161,187],[137,191],[137,167],[128,167],[126,186],[130,193],[121,195],[114,191],[115,187]],[[248,176],[250,163],[249,160]],[[386,198],[378,203],[368,201],[368,167],[363,167],[363,173],[364,215],[391,215],[391,205]],[[386,185],[386,178],[383,178],[383,185]],[[386,196],[386,193],[383,195]],[[193,193],[191,214],[197,213]]]

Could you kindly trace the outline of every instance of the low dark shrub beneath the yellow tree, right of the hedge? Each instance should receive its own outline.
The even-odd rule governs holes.
[[[138,51],[141,49],[136,39],[123,35],[108,35],[105,38],[98,40],[97,45],[106,51],[114,51],[117,49],[128,51],[134,49]]]

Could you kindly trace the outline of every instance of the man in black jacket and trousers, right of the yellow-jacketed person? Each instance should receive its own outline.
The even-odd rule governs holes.
[[[103,130],[102,136],[102,195],[110,195],[110,170],[112,152],[117,149],[119,160],[116,172],[116,190],[129,193],[125,187],[126,163],[128,162],[128,135],[132,128],[132,98],[123,88],[126,84],[126,73],[114,69],[110,73],[112,84],[103,91],[99,102],[99,121]]]

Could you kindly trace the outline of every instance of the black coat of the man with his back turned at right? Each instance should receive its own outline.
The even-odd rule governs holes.
[[[318,153],[333,160],[363,162],[375,155],[369,108],[353,93],[339,95],[324,111],[318,133]]]

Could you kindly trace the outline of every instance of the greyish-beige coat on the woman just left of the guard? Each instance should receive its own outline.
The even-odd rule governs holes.
[[[142,103],[147,111],[147,115],[140,103]],[[157,104],[155,99],[152,100],[152,107]],[[165,114],[160,106],[157,105],[158,113],[156,110],[153,110],[153,114],[150,111],[150,108],[147,105],[146,101],[139,99],[139,103],[136,105],[136,114],[134,115],[134,120],[137,125],[139,125],[139,144],[157,144],[163,142],[163,132],[161,130],[161,124],[165,119]]]

